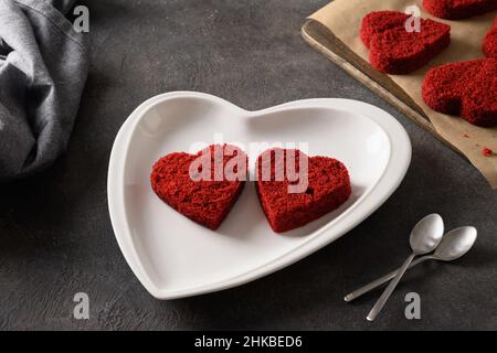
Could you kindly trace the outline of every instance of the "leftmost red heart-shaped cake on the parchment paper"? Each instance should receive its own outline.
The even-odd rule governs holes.
[[[451,26],[419,20],[410,28],[410,17],[398,11],[374,11],[362,19],[360,36],[369,47],[371,65],[388,74],[409,74],[426,65],[451,43]]]

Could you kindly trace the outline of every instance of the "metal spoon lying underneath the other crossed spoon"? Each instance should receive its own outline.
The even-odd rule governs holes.
[[[459,257],[466,255],[467,252],[473,247],[476,240],[477,231],[475,227],[461,227],[453,229],[444,235],[442,242],[440,242],[438,247],[434,254],[420,257],[411,263],[409,268],[412,268],[426,260],[438,260],[438,261],[453,261]],[[345,301],[350,302],[362,295],[380,287],[381,285],[388,282],[393,277],[395,277],[399,269],[391,271],[390,274],[378,278],[377,280],[361,287],[345,297]]]

